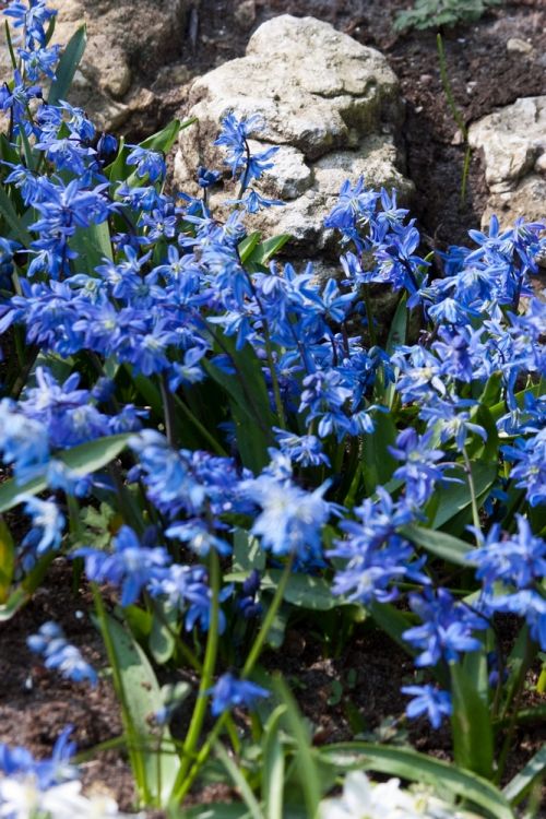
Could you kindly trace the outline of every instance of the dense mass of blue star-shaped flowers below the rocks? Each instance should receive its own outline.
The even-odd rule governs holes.
[[[21,47],[0,90],[1,174],[23,215],[0,239],[0,339],[15,339],[28,378],[5,384],[0,455],[26,486],[23,571],[61,547],[67,511],[79,531],[78,503],[108,500],[122,518],[108,548],[84,539],[74,551],[87,578],[119,587],[123,607],[164,604],[186,631],[207,630],[230,597],[248,620],[262,613],[257,572],[240,600],[210,582],[242,530],[265,565],[325,569],[344,602],[373,610],[405,595],[416,625],[402,639],[419,669],[448,679],[497,612],[525,619],[546,650],[546,547],[531,525],[546,499],[546,306],[531,287],[544,226],[501,230],[494,218],[471,233],[475,249],[432,262],[395,191],[347,180],[324,222],[341,234],[343,272],[321,284],[312,265],[281,266],[247,234],[247,213],[281,204],[254,187],[276,151],[252,153],[260,118],[222,121],[215,144],[238,185],[227,205],[210,206],[222,173],[204,167],[199,197],[168,195],[165,141],[118,146],[83,110],[44,102],[36,83],[59,58],[44,0],[4,13]],[[418,342],[404,329],[385,349],[376,343],[369,285],[400,293],[399,318],[418,308]],[[67,450],[117,434],[130,434],[128,452],[107,476],[67,465]],[[495,460],[496,478],[476,497],[480,459]],[[57,495],[34,497],[35,478]],[[450,487],[473,500],[473,607],[412,534],[434,525]],[[50,624],[32,641],[49,665],[92,679]],[[411,717],[437,727],[449,715],[449,691],[404,690]],[[215,714],[263,696],[230,675],[210,693]]]

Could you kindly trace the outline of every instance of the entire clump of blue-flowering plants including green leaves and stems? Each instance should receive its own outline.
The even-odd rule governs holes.
[[[197,169],[197,195],[167,195],[165,153],[191,123],[139,145],[96,133],[66,102],[85,31],[61,56],[45,0],[4,13],[0,514],[27,526],[0,519],[0,619],[57,556],[84,572],[140,806],[200,816],[180,815],[185,797],[223,776],[242,802],[209,806],[215,819],[361,804],[513,819],[545,756],[499,788],[519,722],[544,714],[523,699],[530,670],[536,695],[546,685],[544,225],[492,218],[432,263],[395,192],[347,180],[324,222],[340,276],[320,284],[274,261],[288,236],[246,228],[281,204],[256,187],[276,150],[250,151],[259,117],[221,123],[227,204],[211,205],[215,169]],[[399,294],[382,343],[371,284]],[[369,628],[395,641],[414,664],[395,721],[449,724],[454,765],[358,737],[313,745],[260,664],[296,618],[324,653]],[[28,645],[99,684],[59,625]],[[115,816],[81,795],[72,751],[67,733],[50,760],[0,746],[0,815]],[[373,787],[364,770],[429,791]]]

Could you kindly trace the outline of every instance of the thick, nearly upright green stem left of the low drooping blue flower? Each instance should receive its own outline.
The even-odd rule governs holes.
[[[216,655],[218,653],[218,616],[219,616],[219,560],[216,551],[211,550],[211,621],[209,624],[209,638],[206,640],[203,672],[199,685],[195,707],[191,716],[190,727],[186,736],[182,749],[182,759],[178,771],[173,793],[178,795],[183,787],[186,775],[195,757],[195,749],[201,736],[201,728],[206,715],[207,691],[212,685],[214,669],[216,667]]]

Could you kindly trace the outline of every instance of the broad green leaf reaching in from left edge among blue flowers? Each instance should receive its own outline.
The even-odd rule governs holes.
[[[73,470],[78,476],[91,475],[119,455],[130,437],[123,434],[97,438],[95,441],[57,452],[55,458]],[[46,471],[26,484],[16,484],[13,478],[7,480],[0,485],[0,514],[16,506],[20,495],[38,495],[44,489],[47,489]]]

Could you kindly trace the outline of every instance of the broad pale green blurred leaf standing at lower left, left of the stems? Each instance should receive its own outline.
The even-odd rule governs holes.
[[[152,799],[163,805],[173,791],[179,760],[168,728],[152,734],[153,715],[164,705],[159,685],[146,655],[131,633],[109,615],[106,615],[106,626],[123,687],[122,701],[130,716],[128,739],[136,744],[132,750],[136,750],[143,760]]]

